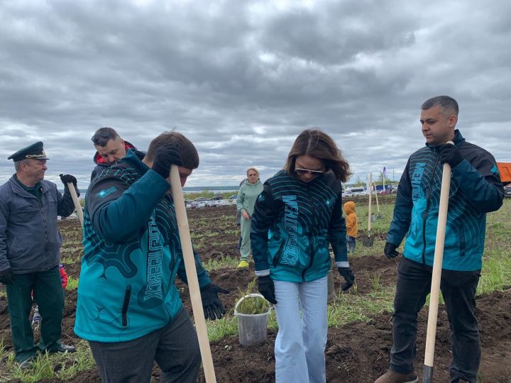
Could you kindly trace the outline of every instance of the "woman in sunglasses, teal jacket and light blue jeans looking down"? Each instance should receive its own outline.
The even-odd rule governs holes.
[[[355,277],[346,255],[341,181],[351,175],[336,143],[302,131],[283,170],[268,179],[252,216],[258,290],[275,305],[276,382],[325,382],[329,244],[347,290]],[[300,313],[301,311],[301,313]]]

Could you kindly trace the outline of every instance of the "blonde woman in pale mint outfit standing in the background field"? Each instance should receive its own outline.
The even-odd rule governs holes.
[[[238,211],[241,211],[241,259],[238,267],[248,267],[250,257],[250,228],[252,223],[253,208],[255,199],[263,191],[263,184],[260,183],[259,172],[255,167],[247,169],[246,181],[241,184],[236,199]]]

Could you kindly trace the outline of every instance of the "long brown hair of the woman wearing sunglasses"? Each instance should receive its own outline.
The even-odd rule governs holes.
[[[322,160],[326,171],[331,170],[336,179],[346,182],[351,176],[349,164],[341,155],[334,140],[319,128],[306,129],[298,135],[291,151],[287,155],[284,170],[295,172],[296,158],[300,155],[310,155]]]

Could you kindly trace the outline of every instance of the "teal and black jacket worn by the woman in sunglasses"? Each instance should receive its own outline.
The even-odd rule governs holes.
[[[337,266],[348,267],[341,182],[327,172],[302,182],[280,171],[255,202],[251,247],[255,274],[285,282],[310,282]]]

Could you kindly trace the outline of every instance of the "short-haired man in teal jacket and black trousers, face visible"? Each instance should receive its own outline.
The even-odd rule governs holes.
[[[477,382],[480,340],[476,288],[485,240],[486,213],[502,206],[504,191],[495,158],[466,142],[455,129],[458,103],[436,96],[422,104],[422,133],[426,146],[414,152],[403,172],[387,235],[385,256],[406,235],[394,299],[390,370],[377,383],[417,382],[417,313],[431,290],[432,265],[439,216],[442,164],[451,165],[441,292],[451,326],[451,382]],[[452,141],[454,145],[446,144]]]

